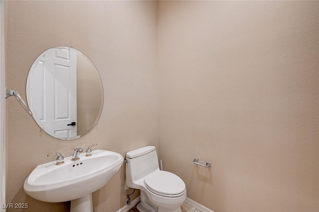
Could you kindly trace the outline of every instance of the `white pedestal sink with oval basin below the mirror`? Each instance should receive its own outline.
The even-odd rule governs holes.
[[[92,193],[119,171],[123,157],[115,152],[95,150],[91,157],[84,153],[77,161],[68,157],[64,162],[38,165],[26,178],[24,191],[43,202],[71,201],[71,212],[93,212]]]

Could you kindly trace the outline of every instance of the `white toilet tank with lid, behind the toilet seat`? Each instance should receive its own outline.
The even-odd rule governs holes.
[[[135,182],[156,170],[159,170],[159,160],[154,146],[142,147],[126,154],[126,185],[134,187]]]

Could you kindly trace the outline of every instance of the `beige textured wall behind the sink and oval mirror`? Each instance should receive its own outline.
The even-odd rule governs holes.
[[[68,157],[75,147],[98,143],[95,149],[125,156],[142,146],[158,146],[156,6],[151,1],[7,2],[7,87],[25,99],[26,77],[34,59],[50,47],[66,45],[82,51],[96,65],[105,98],[99,124],[75,141],[40,132],[14,98],[6,100],[7,203],[28,203],[30,212],[69,211],[69,203],[39,202],[23,191],[27,175],[38,164],[54,160],[47,153]],[[124,167],[93,194],[95,212],[116,212],[125,205]]]

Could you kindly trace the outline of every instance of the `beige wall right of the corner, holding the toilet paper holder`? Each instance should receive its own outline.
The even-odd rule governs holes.
[[[319,211],[318,20],[318,1],[160,1],[159,155],[190,199]]]

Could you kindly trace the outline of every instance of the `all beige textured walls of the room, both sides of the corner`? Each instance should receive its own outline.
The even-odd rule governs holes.
[[[98,143],[123,156],[159,146],[164,170],[215,212],[319,211],[318,2],[7,6],[7,87],[24,97],[33,60],[67,45],[96,65],[105,98],[99,124],[69,142],[39,132],[15,99],[6,100],[7,203],[67,212],[68,203],[28,197],[23,182],[36,165],[53,160],[47,153],[67,157],[74,147]],[[193,165],[194,157],[212,168]],[[94,193],[95,212],[124,206],[124,178],[123,166]]]

